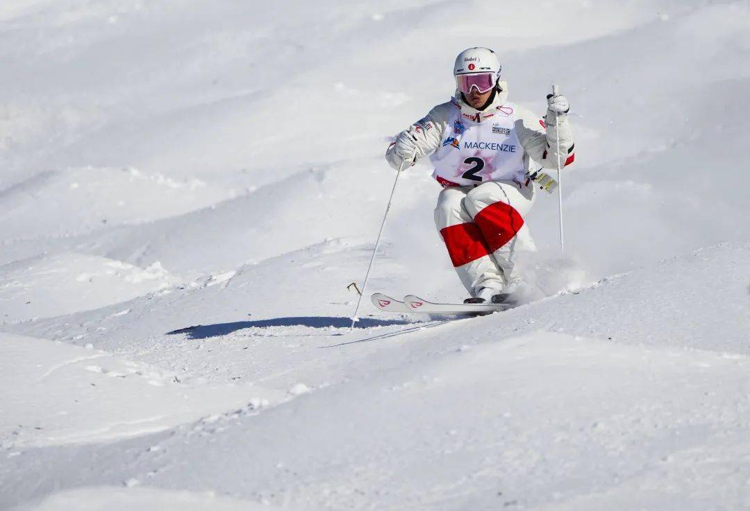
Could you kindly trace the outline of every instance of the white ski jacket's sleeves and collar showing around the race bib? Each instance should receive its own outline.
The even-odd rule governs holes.
[[[408,133],[413,137],[416,143],[416,159],[421,160],[424,157],[434,153],[440,147],[443,131],[446,128],[452,108],[458,106],[461,115],[474,122],[484,122],[493,117],[495,112],[502,108],[508,99],[508,84],[504,81],[498,82],[495,99],[484,110],[477,110],[463,101],[460,92],[457,90],[455,97],[449,102],[442,103],[430,110],[428,115],[416,121],[407,128]],[[568,115],[559,115],[558,119],[554,112],[547,111],[544,119],[538,115],[529,112],[528,109],[514,105],[515,123],[514,127],[523,147],[523,162],[526,165],[527,172],[535,172],[539,166],[548,169],[557,168],[557,145],[556,135],[559,134],[561,166],[568,166],[573,163],[574,143],[573,132],[568,122]],[[403,132],[402,132],[403,133]],[[394,169],[400,169],[404,163],[398,154],[395,154],[395,142],[389,146],[386,151],[386,160]]]

